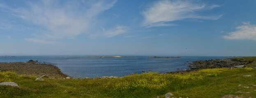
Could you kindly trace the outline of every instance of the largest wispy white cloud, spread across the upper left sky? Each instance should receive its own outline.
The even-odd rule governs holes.
[[[29,7],[18,9],[4,4],[0,4],[0,7],[6,9],[9,15],[27,20],[43,28],[44,32],[36,32],[39,33],[35,36],[36,38],[57,40],[71,39],[81,33],[86,33],[97,24],[99,14],[113,7],[115,2],[117,0],[86,2],[40,0],[28,2]]]

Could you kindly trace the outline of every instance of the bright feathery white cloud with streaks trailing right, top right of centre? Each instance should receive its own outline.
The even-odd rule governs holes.
[[[210,10],[215,7],[220,7],[220,5],[208,6],[206,4],[192,3],[190,0],[161,0],[155,2],[150,8],[143,11],[143,16],[145,17],[143,26],[174,26],[174,24],[166,24],[166,22],[183,20],[187,18],[217,20],[222,15],[200,16],[196,13],[196,11]]]

